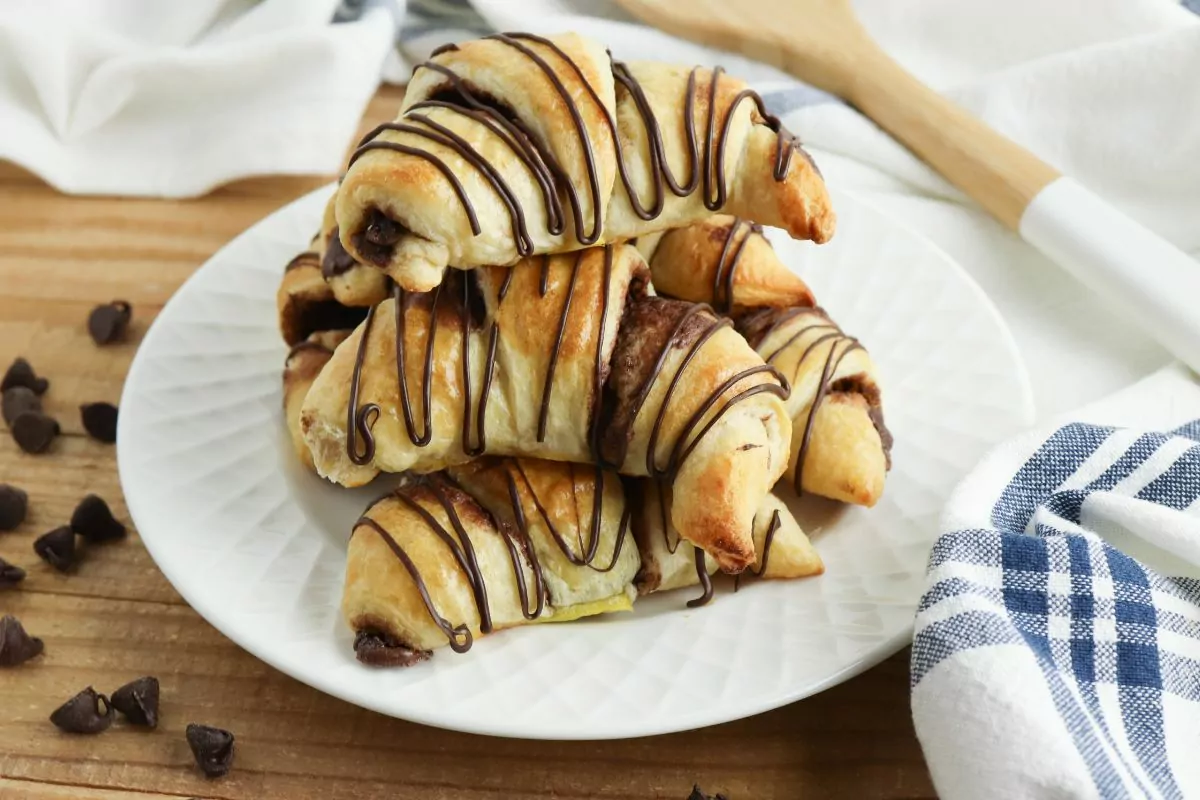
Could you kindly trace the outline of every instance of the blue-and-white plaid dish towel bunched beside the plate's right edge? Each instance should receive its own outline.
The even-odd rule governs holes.
[[[955,492],[912,650],[943,798],[1200,796],[1198,415],[1171,368]]]

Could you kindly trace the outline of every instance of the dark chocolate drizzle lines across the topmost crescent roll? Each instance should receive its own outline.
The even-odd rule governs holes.
[[[566,170],[563,168],[562,163],[556,158],[548,144],[544,142],[541,137],[539,137],[530,127],[522,122],[511,108],[508,108],[494,98],[486,97],[452,68],[433,60],[418,65],[418,67],[414,68],[414,74],[418,70],[432,70],[446,78],[446,89],[433,92],[428,98],[410,106],[404,112],[402,121],[385,122],[384,125],[380,125],[371,131],[359,143],[359,146],[350,156],[349,163],[353,164],[358,161],[358,158],[371,150],[392,150],[427,161],[442,172],[443,175],[445,175],[467,215],[472,233],[478,236],[480,234],[479,215],[474,204],[467,197],[461,180],[457,175],[455,175],[449,164],[434,154],[422,150],[419,146],[380,140],[378,137],[385,131],[412,134],[419,139],[424,139],[452,151],[456,156],[478,170],[508,210],[510,228],[518,255],[529,255],[535,252],[536,247],[529,234],[526,213],[516,192],[514,192],[512,187],[508,184],[494,164],[492,164],[484,156],[479,155],[476,149],[469,142],[444,125],[433,121],[427,114],[422,114],[420,112],[433,108],[448,109],[487,127],[500,142],[504,143],[509,150],[512,151],[512,154],[524,166],[528,173],[533,176],[534,181],[538,184],[546,210],[546,231],[553,236],[560,235],[564,231],[568,213],[568,209],[564,207],[563,203],[563,198],[565,197],[565,205],[570,206],[575,239],[583,246],[596,243],[604,233],[604,210],[606,204],[604,203],[601,179],[596,166],[596,146],[592,139],[590,132],[588,131],[583,112],[575,98],[578,91],[574,85],[568,86],[568,84],[564,83],[563,77],[559,76],[554,66],[547,60],[546,55],[534,49],[530,43],[544,48],[550,54],[553,54],[554,59],[565,65],[568,71],[566,76],[569,78],[574,77],[578,80],[578,88],[582,88],[583,94],[587,95],[588,102],[594,106],[602,116],[604,124],[608,128],[608,136],[611,137],[612,145],[616,150],[617,172],[620,178],[622,186],[634,213],[641,219],[654,219],[662,213],[667,191],[672,192],[676,197],[688,197],[697,188],[701,188],[703,191],[706,207],[715,211],[725,205],[728,199],[725,167],[730,144],[730,132],[734,114],[737,113],[738,107],[745,101],[750,101],[755,106],[757,118],[752,118],[752,121],[755,124],[768,126],[778,134],[775,164],[773,168],[773,176],[776,181],[782,181],[787,176],[792,154],[797,150],[803,152],[798,139],[782,126],[778,118],[767,112],[762,97],[750,89],[743,89],[734,95],[727,106],[724,119],[720,122],[718,121],[718,90],[721,74],[724,73],[724,68],[721,67],[715,67],[709,77],[708,114],[704,121],[704,138],[703,143],[701,143],[696,134],[696,84],[697,76],[700,74],[700,67],[695,67],[688,76],[688,89],[683,112],[684,130],[688,138],[690,175],[686,182],[680,182],[671,172],[671,167],[666,157],[666,144],[664,142],[662,128],[654,114],[654,109],[650,107],[650,102],[646,96],[644,89],[634,77],[629,66],[624,62],[612,60],[610,54],[613,80],[624,91],[629,92],[648,139],[650,161],[649,170],[654,182],[654,193],[649,204],[644,204],[642,199],[637,197],[634,181],[629,174],[630,169],[626,163],[629,160],[622,149],[622,137],[618,130],[616,115],[596,92],[592,83],[587,79],[583,68],[558,44],[542,36],[512,32],[493,34],[486,38],[503,43],[533,62],[533,65],[536,66],[536,68],[545,76],[546,80],[560,100],[563,107],[566,109],[566,113],[570,115],[571,126],[575,130],[575,134],[578,137],[580,151],[582,152],[587,172],[587,192],[592,211],[590,221],[588,223],[584,221],[584,207],[580,191],[568,175]],[[437,58],[443,53],[450,53],[457,49],[457,47],[438,48],[433,52],[431,58]],[[586,227],[586,224],[588,224],[588,227]],[[392,235],[389,235],[380,241],[372,240],[372,243],[384,246],[392,245],[398,237],[397,231],[398,229],[392,231]]]

